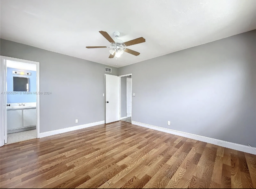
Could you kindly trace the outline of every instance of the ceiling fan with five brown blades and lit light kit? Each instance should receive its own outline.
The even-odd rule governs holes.
[[[121,39],[119,39],[119,35],[120,32],[115,31],[114,35],[115,35],[115,39],[112,39],[111,36],[108,35],[108,33],[106,31],[99,31],[101,35],[103,35],[109,42],[110,45],[109,46],[94,46],[94,47],[86,47],[87,49],[93,49],[93,48],[111,48],[109,50],[109,57],[108,58],[114,58],[115,57],[120,57],[122,55],[122,53],[126,52],[126,53],[130,53],[132,55],[138,56],[140,53],[133,51],[131,49],[127,49],[127,46],[130,45],[136,45],[139,43],[144,43],[146,40],[143,37],[134,39],[134,40],[130,40],[128,42],[123,42]]]

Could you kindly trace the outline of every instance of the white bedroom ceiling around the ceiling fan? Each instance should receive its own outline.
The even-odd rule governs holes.
[[[256,29],[256,0],[1,0],[1,38],[122,67]],[[109,59],[98,32],[143,44]]]

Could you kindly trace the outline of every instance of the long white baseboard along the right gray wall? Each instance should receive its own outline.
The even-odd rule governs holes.
[[[226,147],[226,148],[230,148],[230,149],[234,149],[234,150],[238,150],[238,151],[242,151],[242,152],[246,152],[246,153],[250,153],[250,154],[256,154],[256,148],[255,147],[249,147],[249,146],[246,146],[246,145],[241,145],[241,144],[236,144],[236,143],[232,143],[232,142],[227,142],[227,141],[224,141],[224,140],[209,138],[209,137],[206,137],[206,136],[200,136],[200,135],[197,135],[197,134],[185,133],[185,132],[182,132],[182,131],[167,129],[167,128],[164,128],[164,127],[158,127],[158,126],[154,126],[154,125],[143,124],[143,123],[135,122],[135,121],[132,121],[132,124],[139,125],[141,127],[146,127],[146,128],[149,128],[149,129],[154,129],[154,130],[157,130],[157,131],[162,131],[162,132],[165,132],[165,133],[175,134],[175,135],[178,135],[178,136],[184,136],[186,138],[191,138],[191,139],[194,139],[194,140],[199,140],[199,141],[202,141],[202,142],[207,142],[207,143],[210,143],[210,144],[219,145],[219,146],[222,146],[222,147]]]

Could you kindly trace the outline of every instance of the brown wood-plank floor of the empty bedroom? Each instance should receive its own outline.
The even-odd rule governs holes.
[[[256,155],[127,122],[0,148],[1,188],[256,188]]]

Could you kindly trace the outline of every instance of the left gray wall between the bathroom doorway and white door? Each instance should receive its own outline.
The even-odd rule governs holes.
[[[3,39],[0,43],[0,55],[40,62],[40,91],[52,92],[40,96],[40,133],[104,120],[105,65]]]

